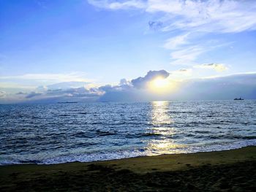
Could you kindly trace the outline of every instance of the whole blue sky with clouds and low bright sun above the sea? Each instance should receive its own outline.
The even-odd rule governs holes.
[[[254,0],[0,0],[0,104],[256,99]]]

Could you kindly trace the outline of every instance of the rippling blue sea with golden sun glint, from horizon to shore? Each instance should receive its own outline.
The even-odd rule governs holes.
[[[256,100],[0,105],[0,164],[59,164],[256,145]]]

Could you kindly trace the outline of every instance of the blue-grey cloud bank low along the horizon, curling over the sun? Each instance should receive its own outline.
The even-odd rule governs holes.
[[[180,82],[176,91],[165,94],[152,93],[146,89],[147,83],[154,78],[168,76],[165,70],[150,71],[144,77],[131,81],[122,79],[118,85],[99,88],[71,88],[69,85],[75,85],[75,82],[61,82],[47,86],[44,91],[41,88],[41,92],[25,95],[24,102],[205,100],[234,99],[238,96],[256,99],[256,73],[187,80]]]

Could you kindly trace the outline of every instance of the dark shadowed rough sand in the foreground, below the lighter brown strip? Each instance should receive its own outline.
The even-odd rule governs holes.
[[[256,161],[146,174],[96,164],[87,168],[23,180],[10,175],[13,180],[1,180],[0,191],[256,191]]]

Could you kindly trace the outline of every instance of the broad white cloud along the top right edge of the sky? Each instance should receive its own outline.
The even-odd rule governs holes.
[[[105,9],[143,9],[165,14],[165,31],[203,31],[236,33],[256,29],[255,1],[234,0],[127,0],[96,1],[89,3]]]

